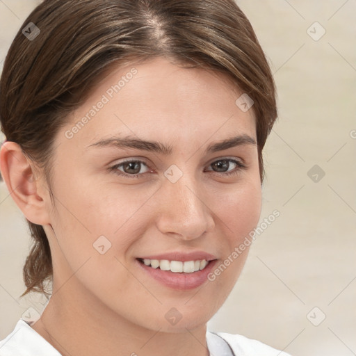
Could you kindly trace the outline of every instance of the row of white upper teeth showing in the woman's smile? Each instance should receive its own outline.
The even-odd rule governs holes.
[[[198,261],[168,261],[168,259],[143,259],[146,266],[160,268],[161,270],[170,270],[175,273],[193,273],[204,269],[209,262],[206,259]]]

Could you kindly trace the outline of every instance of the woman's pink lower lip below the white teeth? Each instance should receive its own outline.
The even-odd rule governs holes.
[[[209,261],[209,264],[203,270],[197,270],[197,272],[192,273],[176,273],[171,272],[170,270],[161,270],[160,268],[152,268],[143,264],[138,259],[136,259],[140,268],[143,268],[146,273],[148,273],[155,280],[161,282],[165,286],[168,286],[172,289],[179,289],[185,291],[188,289],[194,289],[198,286],[207,282],[207,276],[213,269],[213,266],[216,264],[216,259]]]

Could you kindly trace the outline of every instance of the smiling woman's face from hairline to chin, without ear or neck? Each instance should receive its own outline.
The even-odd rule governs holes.
[[[59,131],[45,226],[55,293],[168,332],[223,305],[261,212],[254,114],[224,78],[163,58],[120,68]]]

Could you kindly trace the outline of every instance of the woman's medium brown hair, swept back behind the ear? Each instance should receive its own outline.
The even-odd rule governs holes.
[[[30,22],[40,29],[31,40],[22,32]],[[44,0],[25,20],[3,66],[0,120],[6,140],[43,169],[50,187],[54,138],[68,114],[114,65],[157,56],[225,73],[253,99],[263,182],[262,149],[277,118],[275,83],[234,0]],[[41,225],[27,222],[33,246],[22,296],[48,295],[44,283],[51,282],[53,270],[47,236]]]

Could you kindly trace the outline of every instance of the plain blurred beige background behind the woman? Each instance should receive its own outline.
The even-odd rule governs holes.
[[[257,237],[209,327],[294,356],[356,355],[356,1],[237,2],[279,92],[279,120],[265,150],[261,221],[275,209],[280,217]],[[0,62],[35,3],[0,0]],[[309,174],[318,174],[317,182],[307,175],[314,165],[325,172]],[[19,299],[29,238],[3,183],[0,236],[3,339],[27,308],[43,309],[36,296]]]

